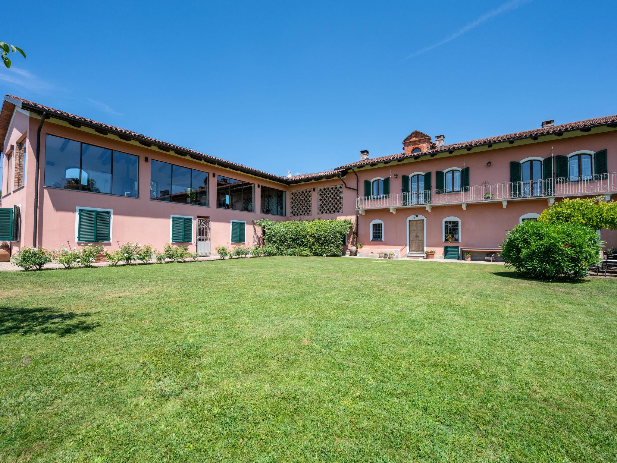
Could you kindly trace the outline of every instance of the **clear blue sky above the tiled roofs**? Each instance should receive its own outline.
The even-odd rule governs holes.
[[[284,175],[617,113],[617,2],[25,2],[0,90]]]

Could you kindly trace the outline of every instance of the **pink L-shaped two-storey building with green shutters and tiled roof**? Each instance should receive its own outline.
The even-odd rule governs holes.
[[[473,249],[482,259],[561,198],[617,193],[617,115],[455,144],[413,131],[399,154],[362,151],[359,161],[292,177],[8,95],[0,136],[0,241],[12,252],[136,241],[207,255],[254,246],[255,219],[348,218],[363,254]],[[608,230],[602,238],[617,246]]]

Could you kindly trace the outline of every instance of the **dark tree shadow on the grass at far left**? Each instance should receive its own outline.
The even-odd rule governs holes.
[[[49,307],[27,309],[25,307],[0,307],[0,336],[54,334],[72,335],[88,332],[99,326],[85,320],[90,314],[61,312]]]

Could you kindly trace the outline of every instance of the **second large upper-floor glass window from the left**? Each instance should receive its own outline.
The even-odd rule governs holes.
[[[208,205],[208,173],[168,162],[152,161],[150,199]]]

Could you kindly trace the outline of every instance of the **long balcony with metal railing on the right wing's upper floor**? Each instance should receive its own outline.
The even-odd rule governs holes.
[[[617,173],[600,173],[574,177],[546,178],[532,181],[504,181],[487,185],[424,190],[411,193],[390,193],[378,196],[358,196],[356,209],[363,213],[371,209],[399,207],[449,206],[478,202],[502,202],[525,199],[562,198],[565,196],[599,196],[617,193]]]

